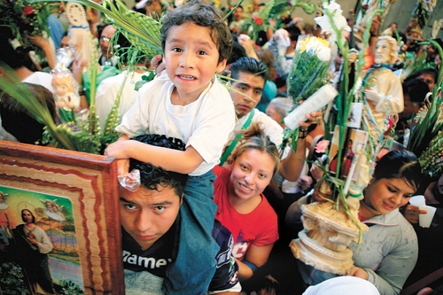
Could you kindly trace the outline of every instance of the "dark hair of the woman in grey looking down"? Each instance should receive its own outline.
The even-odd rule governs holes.
[[[389,151],[378,160],[374,170],[376,180],[386,178],[401,178],[408,182],[411,188],[418,189],[422,182],[422,168],[412,151]]]

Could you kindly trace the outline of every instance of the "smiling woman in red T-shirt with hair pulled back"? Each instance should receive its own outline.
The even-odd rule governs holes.
[[[277,216],[262,194],[276,173],[280,159],[276,145],[257,124],[245,130],[233,151],[231,170],[214,167],[215,219],[234,237],[239,278],[245,280],[268,260],[278,238]]]

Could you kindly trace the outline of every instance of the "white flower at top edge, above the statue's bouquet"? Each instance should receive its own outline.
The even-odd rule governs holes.
[[[348,32],[351,32],[351,27],[347,25],[346,18],[343,16],[343,11],[341,10],[340,4],[337,4],[335,1],[330,1],[330,4],[327,2],[323,2],[323,10],[325,12],[329,12],[332,16],[332,19],[328,17],[326,13],[324,13],[323,16],[315,18],[315,22],[317,25],[322,27],[322,33],[326,33],[330,35],[331,41],[335,42],[338,40],[338,36],[334,29],[332,28],[332,25],[330,24],[330,20],[334,22],[336,27],[338,28],[338,31],[346,30]],[[343,35],[340,34],[340,40],[343,42]]]

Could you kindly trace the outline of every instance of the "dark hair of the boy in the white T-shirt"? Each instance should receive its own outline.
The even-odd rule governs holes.
[[[211,28],[211,38],[217,45],[220,54],[219,62],[228,59],[234,42],[229,27],[221,15],[221,11],[213,4],[202,3],[199,0],[190,1],[167,12],[161,22],[161,48],[165,50],[167,35],[171,27],[181,26],[183,23],[194,23],[200,27]]]

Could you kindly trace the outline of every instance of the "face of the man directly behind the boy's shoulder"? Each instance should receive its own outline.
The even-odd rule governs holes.
[[[265,79],[261,76],[242,72],[239,72],[236,79],[239,82],[232,82],[233,89],[229,93],[236,107],[237,118],[240,119],[259,104],[261,93],[265,87]]]

